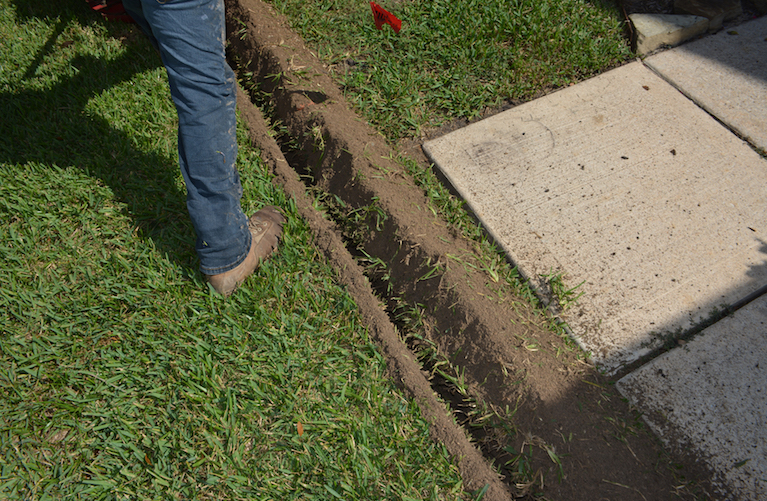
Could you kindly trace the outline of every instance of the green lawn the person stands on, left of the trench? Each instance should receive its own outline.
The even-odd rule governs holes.
[[[0,64],[0,497],[466,497],[243,131],[243,208],[285,237],[207,288],[142,37],[0,0]]]

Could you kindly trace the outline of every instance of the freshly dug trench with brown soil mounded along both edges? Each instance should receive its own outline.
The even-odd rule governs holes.
[[[286,20],[258,0],[226,8],[231,63],[252,91],[238,96],[251,139],[355,298],[393,381],[452,455],[467,497],[708,498],[695,458],[664,451],[556,320],[483,270],[477,242],[432,210],[397,145],[354,113]],[[284,126],[281,144],[256,95]],[[318,212],[317,193],[355,214],[354,228]],[[360,263],[371,262],[366,276]]]

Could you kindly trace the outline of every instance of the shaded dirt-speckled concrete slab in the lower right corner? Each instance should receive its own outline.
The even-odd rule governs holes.
[[[719,499],[767,499],[767,296],[617,387],[667,446],[708,465]]]

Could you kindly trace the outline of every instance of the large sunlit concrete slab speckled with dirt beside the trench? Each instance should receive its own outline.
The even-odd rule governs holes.
[[[767,283],[767,161],[639,62],[424,151],[608,373]]]

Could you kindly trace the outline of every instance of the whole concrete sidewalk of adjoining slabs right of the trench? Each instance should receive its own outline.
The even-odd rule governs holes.
[[[767,498],[766,134],[762,17],[424,145],[543,295],[582,294],[603,370],[677,346],[618,387],[733,499]]]

